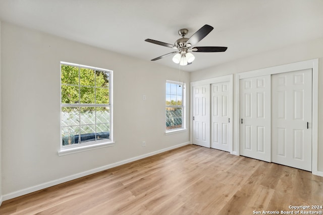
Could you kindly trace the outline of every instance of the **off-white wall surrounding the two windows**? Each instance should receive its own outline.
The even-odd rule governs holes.
[[[165,135],[165,83],[179,80],[176,69],[5,22],[2,54],[4,199],[189,142],[188,131]],[[115,146],[58,156],[60,61],[114,70]]]

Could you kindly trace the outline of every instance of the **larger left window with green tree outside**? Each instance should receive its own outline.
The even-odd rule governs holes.
[[[62,147],[111,140],[112,71],[61,62]]]

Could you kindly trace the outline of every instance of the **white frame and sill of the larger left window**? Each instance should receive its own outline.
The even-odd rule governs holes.
[[[75,66],[78,68],[89,68],[93,70],[99,70],[99,71],[105,71],[109,73],[109,104],[62,104],[62,79],[61,79],[61,74],[62,74],[62,65],[70,65],[70,66]],[[76,63],[69,63],[69,62],[60,62],[60,87],[61,87],[61,95],[60,95],[60,102],[61,102],[61,120],[60,120],[60,150],[58,151],[59,156],[63,155],[69,155],[69,154],[74,154],[78,152],[84,152],[88,150],[93,150],[93,149],[99,149],[103,147],[110,147],[114,146],[114,141],[113,141],[113,70],[109,69],[103,69],[103,68],[98,68],[98,67],[93,67],[93,66],[87,66],[87,65],[81,65],[81,64],[76,64]],[[75,144],[75,145],[70,145],[70,146],[63,146],[62,145],[62,107],[109,107],[110,108],[110,137],[109,139],[102,139],[102,140],[95,140],[95,141],[89,141],[89,142],[84,142],[82,144]],[[79,137],[80,138],[80,137]]]

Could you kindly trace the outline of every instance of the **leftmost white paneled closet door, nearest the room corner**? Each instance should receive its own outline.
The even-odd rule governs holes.
[[[210,86],[193,87],[193,144],[210,148]]]

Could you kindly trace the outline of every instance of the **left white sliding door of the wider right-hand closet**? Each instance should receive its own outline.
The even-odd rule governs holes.
[[[240,154],[271,162],[271,76],[240,80]]]

